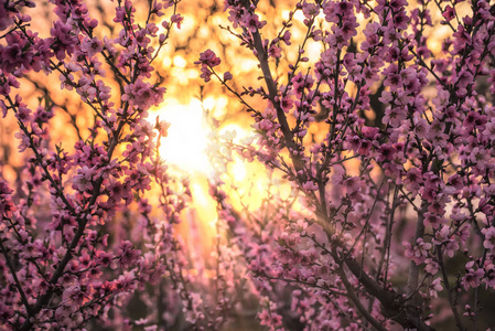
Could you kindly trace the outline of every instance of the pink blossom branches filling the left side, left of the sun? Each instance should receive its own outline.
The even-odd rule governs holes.
[[[108,320],[128,293],[165,273],[175,275],[175,286],[186,281],[176,276],[182,265],[175,263],[181,257],[173,224],[189,197],[169,189],[155,153],[168,125],[146,120],[165,93],[149,78],[172,28],[182,22],[179,1],[150,2],[144,25],[134,21],[131,1],[118,1],[119,32],[104,38],[85,1],[51,2],[56,19],[46,38],[31,30],[34,2],[0,2],[0,108],[6,120],[18,122],[25,164],[17,190],[0,180],[2,330],[84,329],[95,318]],[[160,32],[155,21],[165,10],[172,14],[160,19]],[[63,106],[47,97],[32,109],[23,100],[19,89],[30,72],[58,76],[62,89],[78,95],[80,111],[93,114],[86,130],[74,124],[79,139],[73,146],[51,135]],[[109,72],[120,93],[110,87]],[[162,215],[152,217],[144,195],[153,182],[161,188]],[[148,246],[119,234],[114,223],[126,210],[134,211],[136,231],[148,236]],[[111,313],[120,327],[134,323]],[[155,328],[153,321],[140,324]]]

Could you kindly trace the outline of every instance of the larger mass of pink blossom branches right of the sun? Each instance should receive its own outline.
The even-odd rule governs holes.
[[[258,134],[256,143],[226,143],[281,171],[305,210],[275,212],[280,223],[248,239],[235,227],[243,220],[232,228],[268,297],[261,324],[432,330],[442,307],[460,330],[480,325],[480,292],[495,289],[495,15],[473,1],[461,17],[463,2],[299,1],[273,36],[258,1],[225,1],[226,30],[263,82],[236,92],[217,75]],[[430,49],[435,24],[451,33],[441,50]],[[319,56],[305,54],[310,44]],[[281,61],[290,52],[295,61]],[[216,55],[200,61],[208,82],[220,63],[205,57]],[[252,96],[267,107],[250,107]]]

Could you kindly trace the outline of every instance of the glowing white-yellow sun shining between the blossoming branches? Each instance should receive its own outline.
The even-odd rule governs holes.
[[[171,124],[168,136],[161,141],[161,158],[179,172],[209,174],[213,168],[206,148],[211,129],[204,120],[201,100],[193,99],[187,105],[168,100],[150,119],[157,116]]]

